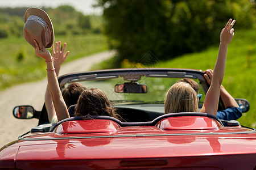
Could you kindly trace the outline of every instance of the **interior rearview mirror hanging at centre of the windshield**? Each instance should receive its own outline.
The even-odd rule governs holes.
[[[147,86],[137,82],[127,82],[124,84],[115,84],[115,92],[131,93],[131,94],[146,94]]]

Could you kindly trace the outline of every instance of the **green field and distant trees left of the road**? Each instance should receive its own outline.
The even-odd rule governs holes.
[[[27,8],[0,8],[0,91],[46,76],[45,63],[23,37]],[[86,16],[71,6],[43,10],[52,20],[55,41],[67,42],[67,50],[71,51],[66,62],[108,49],[101,16]]]

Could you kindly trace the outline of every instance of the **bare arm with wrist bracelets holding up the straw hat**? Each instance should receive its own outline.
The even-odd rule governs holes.
[[[55,73],[55,68],[52,62],[53,59],[51,53],[44,46],[42,50],[40,50],[38,42],[36,41],[35,45],[36,56],[46,60],[49,92],[52,95],[52,101],[57,114],[58,121],[61,121],[64,118],[68,118],[69,114],[63,96],[61,95],[59,83],[57,81],[57,76]]]

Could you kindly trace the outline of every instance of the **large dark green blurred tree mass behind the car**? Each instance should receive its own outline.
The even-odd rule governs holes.
[[[138,62],[148,52],[158,59],[200,52],[218,44],[229,18],[236,28],[254,27],[254,2],[249,0],[97,0],[104,9],[109,45],[123,59]]]

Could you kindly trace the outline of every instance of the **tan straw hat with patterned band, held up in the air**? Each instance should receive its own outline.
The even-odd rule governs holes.
[[[24,38],[35,48],[36,40],[39,48],[50,48],[54,42],[54,31],[51,19],[40,8],[28,8],[24,15]]]

